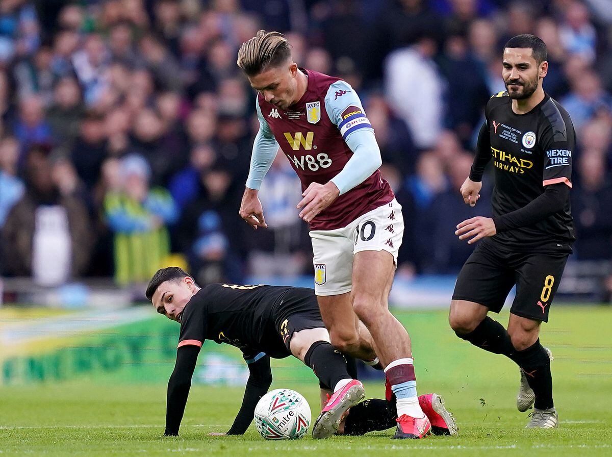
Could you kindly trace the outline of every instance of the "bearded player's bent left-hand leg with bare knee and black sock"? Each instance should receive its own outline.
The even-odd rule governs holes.
[[[504,326],[487,316],[499,313],[515,277],[501,253],[482,245],[461,269],[450,302],[449,324],[462,340],[512,358],[512,341]]]

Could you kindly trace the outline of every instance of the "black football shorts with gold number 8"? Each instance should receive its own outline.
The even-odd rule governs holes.
[[[548,311],[559,287],[567,253],[518,253],[505,251],[493,240],[479,243],[463,265],[453,300],[480,303],[499,313],[510,289],[517,295],[510,313],[548,322]]]

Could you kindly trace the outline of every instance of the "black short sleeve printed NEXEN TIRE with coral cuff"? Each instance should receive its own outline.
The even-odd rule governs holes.
[[[543,130],[540,147],[544,153],[542,186],[564,183],[572,187],[572,156],[576,134],[569,116],[559,113],[555,122]],[[561,121],[562,120],[562,121]]]

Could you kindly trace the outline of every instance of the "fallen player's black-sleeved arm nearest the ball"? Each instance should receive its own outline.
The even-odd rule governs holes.
[[[248,381],[242,398],[242,406],[228,431],[228,435],[242,435],[253,422],[255,406],[261,397],[266,395],[272,384],[272,370],[270,368],[270,357],[263,352],[252,359],[247,359]]]

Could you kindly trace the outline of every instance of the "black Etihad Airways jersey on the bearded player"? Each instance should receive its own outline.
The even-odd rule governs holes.
[[[499,92],[488,101],[485,118],[489,141],[481,136],[478,154],[488,151],[493,161],[494,217],[526,206],[547,185],[572,187],[576,146],[572,120],[548,94],[529,113],[516,114],[512,98]],[[500,232],[493,240],[513,251],[570,252],[575,234],[569,197],[562,211],[534,225]]]

